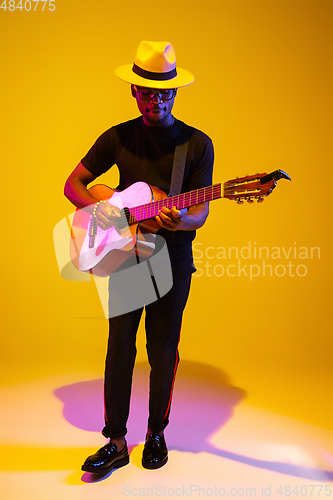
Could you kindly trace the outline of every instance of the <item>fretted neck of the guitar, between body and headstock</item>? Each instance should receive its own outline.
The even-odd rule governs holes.
[[[152,219],[158,215],[162,207],[168,207],[169,209],[177,207],[178,210],[181,210],[182,208],[189,208],[199,203],[205,203],[206,201],[217,200],[219,198],[223,198],[221,183],[194,189],[188,193],[177,194],[176,196],[170,196],[163,200],[153,201],[145,205],[130,208],[128,222],[129,224],[135,224],[143,220]]]

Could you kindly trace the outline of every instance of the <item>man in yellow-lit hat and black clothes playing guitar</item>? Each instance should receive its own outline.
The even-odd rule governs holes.
[[[210,138],[172,115],[177,89],[193,82],[191,73],[176,67],[171,44],[141,42],[135,63],[116,69],[116,75],[131,84],[141,116],[104,132],[70,174],[65,195],[78,208],[94,214],[103,229],[117,224],[120,209],[94,198],[87,186],[113,165],[120,174],[120,191],[144,181],[169,193],[178,134],[184,133],[188,147],[182,193],[210,186],[214,151]],[[181,132],[182,131],[182,132]],[[112,200],[111,200],[112,201]],[[149,418],[142,465],[163,466],[168,459],[163,431],[169,422],[172,390],[179,361],[178,343],[191,274],[195,272],[192,241],[195,230],[208,216],[208,203],[188,209],[163,206],[156,216],[158,235],[166,241],[173,286],[145,307],[147,353],[151,366]],[[136,332],[143,307],[109,319],[109,342],[105,366],[105,427],[108,443],[86,459],[82,470],[104,474],[129,462],[125,440],[132,372],[136,356]]]

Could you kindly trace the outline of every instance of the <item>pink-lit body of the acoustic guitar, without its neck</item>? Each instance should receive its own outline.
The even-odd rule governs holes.
[[[97,200],[107,200],[119,209],[132,208],[167,198],[158,188],[145,182],[136,182],[124,191],[116,191],[103,184],[89,189]],[[89,247],[89,228],[92,215],[85,209],[77,209],[74,215],[70,254],[79,271],[91,272],[95,276],[109,276],[133,255],[149,257],[155,248],[155,233],[160,228],[155,219],[124,228],[112,226],[103,230],[97,226],[92,248]]]

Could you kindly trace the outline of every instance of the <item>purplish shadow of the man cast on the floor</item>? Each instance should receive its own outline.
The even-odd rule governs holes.
[[[131,410],[128,420],[128,445],[133,449],[144,440],[148,419],[149,366],[138,363],[133,377]],[[64,404],[64,418],[73,426],[99,432],[103,420],[103,380],[90,380],[60,387],[55,395]],[[245,391],[231,385],[218,368],[192,361],[178,367],[170,424],[166,429],[169,450],[207,452],[253,467],[319,481],[332,481],[333,472],[290,463],[258,460],[216,448],[210,436],[232,418]],[[85,475],[87,476],[87,474]],[[90,482],[89,477],[82,478]]]

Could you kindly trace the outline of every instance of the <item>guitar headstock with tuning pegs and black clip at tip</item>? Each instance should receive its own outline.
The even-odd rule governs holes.
[[[262,173],[237,177],[223,183],[223,198],[235,200],[240,205],[244,201],[254,203],[257,200],[258,203],[262,203],[264,197],[271,194],[279,179],[291,180],[283,170],[275,170],[270,174]]]

